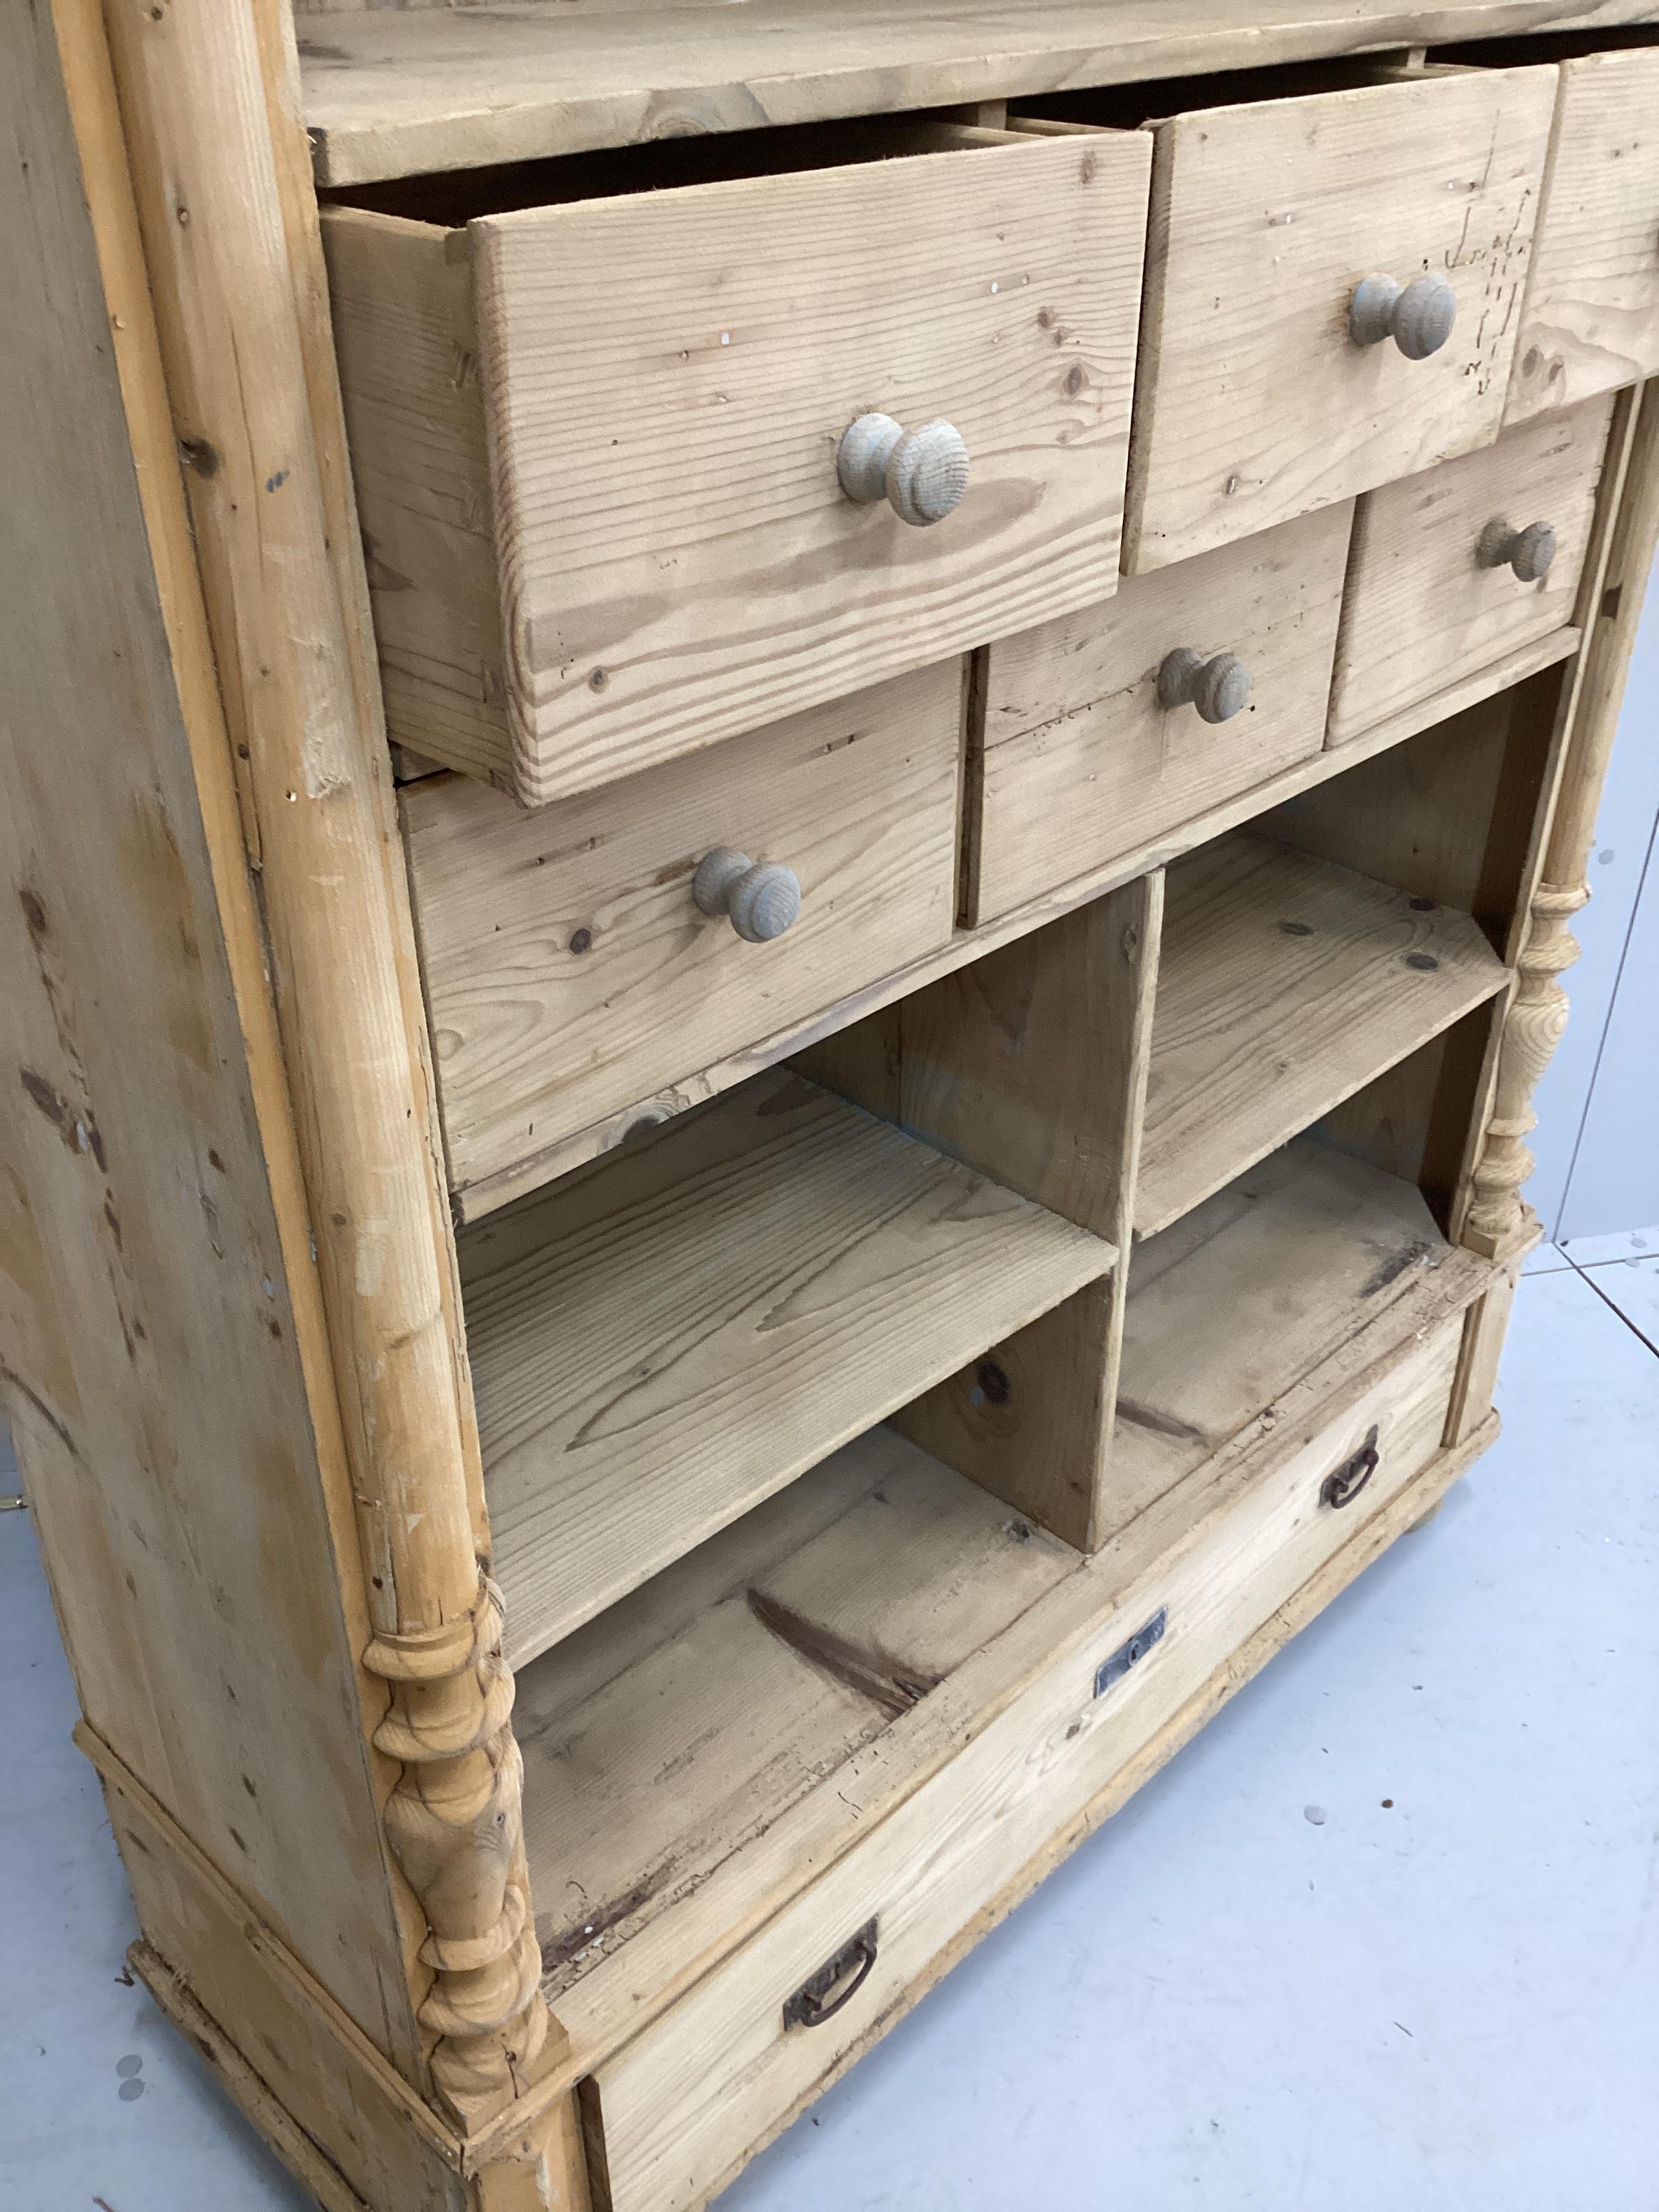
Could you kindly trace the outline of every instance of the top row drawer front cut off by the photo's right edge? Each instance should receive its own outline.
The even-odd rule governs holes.
[[[1509,420],[1659,374],[1659,49],[1562,64]]]

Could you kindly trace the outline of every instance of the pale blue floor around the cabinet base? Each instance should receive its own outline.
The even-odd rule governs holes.
[[[1440,1520],[721,2212],[1655,2212],[1655,1345],[1659,1232],[1540,1254],[1506,1433]],[[292,2212],[122,1978],[27,1513],[0,1515],[0,2205]]]

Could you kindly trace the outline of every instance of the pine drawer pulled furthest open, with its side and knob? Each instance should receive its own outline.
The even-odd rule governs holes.
[[[1110,593],[1148,173],[865,122],[325,210],[392,737],[542,805]]]

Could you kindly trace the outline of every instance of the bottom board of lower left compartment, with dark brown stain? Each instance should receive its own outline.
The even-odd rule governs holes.
[[[549,1997],[1079,1564],[872,1429],[524,1668],[513,1728]]]

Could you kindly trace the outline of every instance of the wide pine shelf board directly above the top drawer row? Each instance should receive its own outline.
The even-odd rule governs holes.
[[[518,0],[299,18],[321,186],[1652,20],[1655,0]]]

